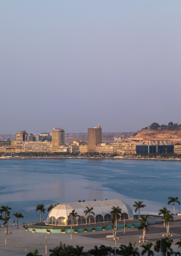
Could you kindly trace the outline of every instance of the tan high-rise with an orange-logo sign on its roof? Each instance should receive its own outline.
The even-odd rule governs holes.
[[[58,146],[65,144],[65,131],[63,129],[54,130],[52,132],[52,152],[58,152]]]

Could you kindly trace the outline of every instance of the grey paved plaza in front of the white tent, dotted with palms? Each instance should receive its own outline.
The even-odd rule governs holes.
[[[17,226],[8,227],[7,235],[7,244],[5,245],[5,228],[0,228],[0,255],[3,256],[21,256],[25,255],[25,249],[27,249],[27,253],[30,251],[34,251],[38,249],[39,253],[42,256],[46,255],[46,234],[43,233],[32,233],[22,229],[21,225],[20,228],[17,229]],[[163,238],[163,234],[166,234],[166,226],[164,227],[163,224],[156,223],[153,225],[149,225],[149,232],[146,231],[146,239],[149,242],[155,244],[157,238],[154,236],[158,236],[160,239]],[[10,234],[11,232],[11,234]],[[181,249],[177,249],[178,246],[175,243],[181,238],[181,217],[175,216],[174,222],[170,222],[170,233],[173,235],[169,237],[173,239],[174,242],[172,244],[172,249],[174,251],[180,251]],[[106,238],[107,235],[112,235],[112,230],[105,230],[105,231],[95,231],[95,232],[87,232],[87,233],[72,233],[72,240],[71,234],[47,234],[47,255],[49,255],[49,249],[53,249],[57,245],[62,243],[66,243],[66,245],[83,245],[84,250],[90,250],[94,247],[94,245],[100,246],[112,246],[114,247],[114,240],[111,238]],[[137,227],[134,228],[126,228],[125,234],[124,229],[117,230],[117,247],[120,244],[128,244],[130,242],[136,242],[136,245],[140,247],[142,243],[139,242],[139,236],[143,236],[142,231],[138,231]],[[140,248],[141,251],[141,248]],[[157,253],[155,252],[155,255]]]

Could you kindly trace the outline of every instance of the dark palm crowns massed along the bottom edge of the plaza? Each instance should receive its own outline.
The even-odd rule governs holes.
[[[148,256],[154,256],[155,252],[162,252],[163,256],[167,256],[167,252],[170,252],[171,255],[175,254],[175,256],[179,255],[181,256],[180,252],[174,252],[174,250],[171,248],[173,243],[172,239],[168,239],[168,237],[165,237],[161,239],[161,246],[160,246],[160,240],[156,241],[156,244],[154,247],[153,244],[150,242],[146,242],[146,244],[141,245],[141,252],[139,252],[138,247],[136,247],[136,242],[133,244],[129,242],[128,245],[121,244],[119,248],[116,249],[116,255],[121,256],[144,256],[147,254]],[[181,247],[181,239],[180,241],[177,241],[175,245],[178,245],[178,249]],[[67,245],[60,243],[59,246],[56,246],[53,249],[50,249],[50,255],[49,256],[107,256],[108,254],[111,255],[114,254],[115,249],[111,246],[97,246],[95,245],[93,249],[90,249],[89,251],[84,251],[84,247],[80,245],[76,245],[76,247],[73,247],[72,245]],[[38,254],[38,250],[35,250],[34,252],[30,252],[27,254],[27,256],[41,256]]]

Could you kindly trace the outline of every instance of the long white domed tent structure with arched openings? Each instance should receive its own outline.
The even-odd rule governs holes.
[[[80,203],[64,203],[56,205],[48,214],[46,219],[46,224],[49,225],[72,225],[73,218],[68,215],[75,210],[75,212],[80,216],[74,218],[74,225],[82,225],[93,223],[101,223],[101,222],[110,222],[111,215],[110,211],[113,206],[119,206],[122,210],[121,216],[117,214],[117,220],[129,220],[133,219],[133,211],[128,204],[124,201],[114,199],[114,200],[101,200],[101,201],[90,201],[90,202],[80,202]],[[84,211],[87,208],[93,207],[93,214],[85,214]]]

